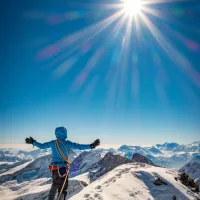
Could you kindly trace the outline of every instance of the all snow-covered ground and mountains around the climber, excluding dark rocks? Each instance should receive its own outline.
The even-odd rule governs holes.
[[[108,152],[128,158],[132,158],[133,153],[140,153],[151,159],[153,163],[165,167],[180,168],[185,165],[183,169],[200,183],[200,173],[197,167],[199,165],[194,164],[194,161],[197,163],[200,161],[200,142],[188,145],[164,143],[149,147],[123,145],[119,149],[89,151],[77,160],[76,155],[72,154],[71,159],[77,162],[74,165],[74,174],[71,176],[73,178],[70,178],[70,196],[68,197],[70,200],[170,200],[173,195],[177,197],[177,200],[200,199],[200,196],[174,180],[178,172],[144,163],[124,164],[113,169],[114,163],[106,161],[113,170],[92,182],[93,179],[89,176],[91,169],[96,165],[96,170],[101,167],[105,168],[106,165],[100,166],[99,163]],[[49,151],[39,149],[0,149],[0,155],[2,155],[0,199],[47,200],[51,185],[47,168],[51,157],[48,156],[49,153]],[[79,155],[81,151],[75,153]],[[13,158],[21,161],[10,162]],[[31,162],[29,162],[30,158]],[[4,162],[4,160],[9,160],[9,162]],[[153,181],[157,177],[163,179],[168,185],[155,186]],[[85,187],[87,184],[88,186]]]

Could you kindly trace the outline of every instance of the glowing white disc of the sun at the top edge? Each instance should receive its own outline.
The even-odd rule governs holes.
[[[142,0],[125,0],[123,7],[124,12],[129,16],[138,15],[142,8]]]

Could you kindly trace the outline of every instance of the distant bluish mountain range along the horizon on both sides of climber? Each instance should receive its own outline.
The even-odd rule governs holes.
[[[180,145],[174,142],[165,142],[164,144],[157,144],[150,147],[122,145],[118,149],[96,149],[93,150],[93,152],[95,154],[99,154],[100,158],[106,153],[112,152],[113,154],[121,155],[128,159],[131,159],[134,153],[139,153],[143,156],[146,156],[156,165],[168,168],[180,168],[191,160],[197,162],[200,161],[200,142],[196,141],[187,145]],[[7,169],[10,169],[14,166],[34,160],[44,155],[48,155],[50,153],[51,152],[49,149],[34,149],[32,151],[20,149],[15,151],[13,149],[0,149],[0,173],[3,173]],[[75,154],[71,153],[70,160],[73,161],[80,153],[81,151],[77,150],[75,151]]]

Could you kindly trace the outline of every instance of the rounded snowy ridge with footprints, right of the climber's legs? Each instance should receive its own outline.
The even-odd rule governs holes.
[[[121,165],[100,177],[70,200],[169,200],[173,195],[177,200],[197,200],[199,195],[192,193],[180,182],[177,174],[164,168],[143,163]],[[160,177],[168,185],[153,184]]]

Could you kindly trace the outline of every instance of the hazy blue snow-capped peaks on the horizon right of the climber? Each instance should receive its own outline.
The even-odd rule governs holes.
[[[166,142],[151,147],[123,145],[118,151],[129,159],[134,153],[139,153],[156,165],[170,168],[180,168],[192,159],[200,160],[200,142],[188,145]]]

